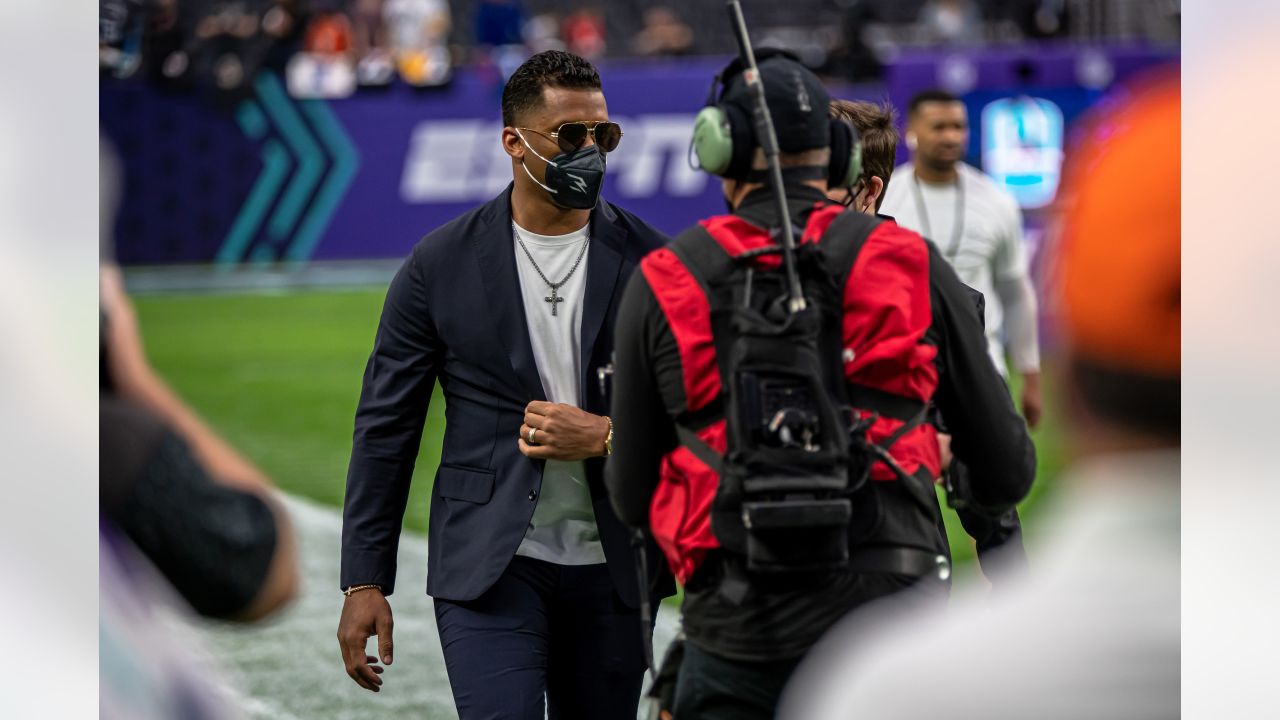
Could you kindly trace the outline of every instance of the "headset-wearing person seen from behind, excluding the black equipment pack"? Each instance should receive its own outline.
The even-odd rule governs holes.
[[[846,570],[760,582],[722,546],[723,519],[712,520],[722,482],[714,468],[733,462],[724,428],[737,398],[721,379],[721,366],[733,360],[719,356],[724,338],[713,332],[710,300],[685,259],[718,255],[750,266],[763,283],[777,274],[777,256],[760,249],[773,242],[767,228],[781,223],[742,67],[733,63],[704,110],[712,124],[695,128],[694,141],[703,168],[723,177],[732,214],[703,220],[645,258],[622,299],[616,338],[612,418],[628,441],[609,461],[605,483],[618,518],[652,532],[685,584],[687,643],[675,692],[682,719],[773,717],[796,664],[846,612],[913,585],[937,591],[925,602],[945,597],[938,559],[946,538],[932,489],[941,470],[937,436],[918,421],[929,401],[952,423],[955,455],[975,478],[991,479],[973,488],[980,505],[1002,510],[1021,500],[1036,466],[969,291],[919,234],[826,199],[828,179],[849,186],[858,176],[852,131],[828,119],[826,90],[794,56],[762,50],[758,58],[787,213],[797,236],[804,228],[797,245],[817,246],[806,255],[847,277],[832,283],[835,300],[815,295],[840,318],[841,347],[824,347],[824,361],[842,373],[856,418],[870,423],[867,437],[891,448],[865,486],[879,520],[858,524],[864,537]],[[726,161],[716,163],[714,147],[704,146],[699,136],[708,132]]]

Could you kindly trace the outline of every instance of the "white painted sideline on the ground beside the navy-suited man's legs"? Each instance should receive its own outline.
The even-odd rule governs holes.
[[[440,655],[435,615],[426,589],[426,539],[404,534],[399,543],[396,612],[396,661],[381,692],[371,693],[347,676],[338,652],[338,559],[342,516],[332,507],[285,498],[298,534],[302,589],[278,619],[252,628],[205,624],[207,650],[236,685],[228,688],[248,717],[291,720],[332,717],[456,719],[453,696]],[[654,655],[662,660],[676,634],[676,612],[663,607],[654,632]],[[376,641],[370,639],[371,653]],[[648,683],[646,683],[648,684]],[[641,705],[641,716],[645,706]]]

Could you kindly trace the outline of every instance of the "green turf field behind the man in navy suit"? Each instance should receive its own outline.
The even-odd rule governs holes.
[[[136,304],[152,364],[197,411],[284,491],[340,507],[352,418],[383,292],[156,295]],[[1052,387],[1046,393],[1046,424],[1036,433],[1039,480],[1023,505],[1030,541],[1036,506],[1061,464],[1057,404]],[[426,530],[443,432],[444,402],[436,392],[404,518],[412,532]],[[947,523],[956,560],[964,562],[973,555],[970,542],[954,514]]]

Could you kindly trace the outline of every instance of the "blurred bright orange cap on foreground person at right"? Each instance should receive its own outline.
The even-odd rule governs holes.
[[[1180,143],[1174,74],[1093,118],[1070,160],[1052,273],[1078,357],[1146,375],[1180,373]]]

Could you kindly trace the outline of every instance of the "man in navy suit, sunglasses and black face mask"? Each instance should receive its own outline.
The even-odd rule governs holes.
[[[338,641],[347,674],[378,692],[379,661],[393,659],[401,521],[439,379],[426,592],[460,716],[635,717],[640,593],[672,584],[637,587],[603,487],[613,428],[596,374],[628,275],[667,238],[599,200],[622,129],[588,61],[532,56],[507,82],[502,115],[515,182],[422,238],[387,292],[347,474]],[[366,656],[375,634],[378,657]]]

